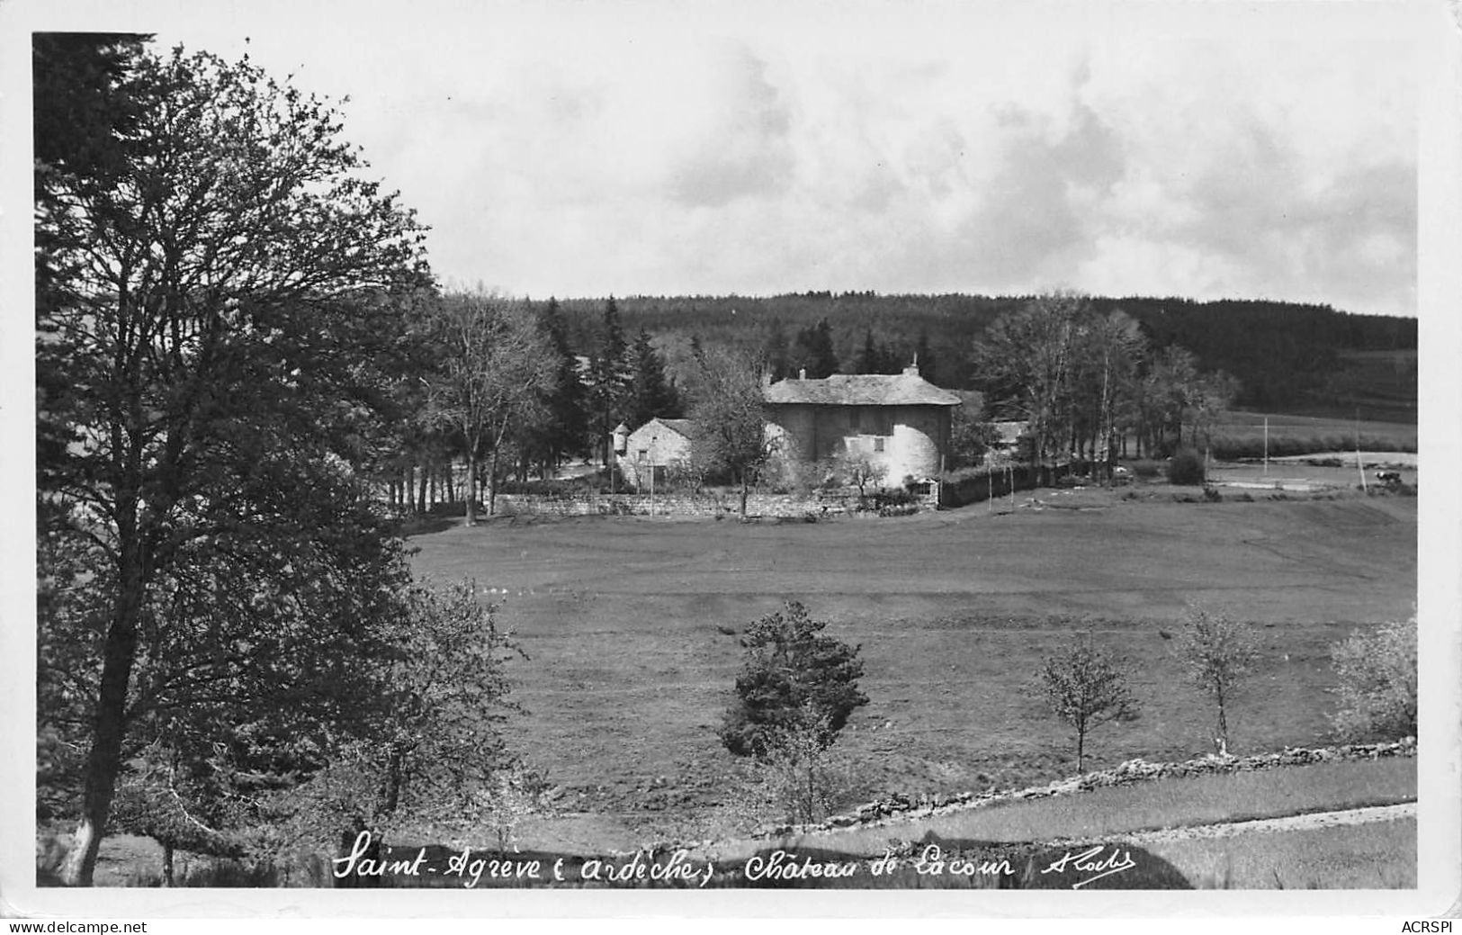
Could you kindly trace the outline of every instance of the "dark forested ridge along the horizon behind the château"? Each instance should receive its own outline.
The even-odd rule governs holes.
[[[880,366],[868,372],[896,372],[912,360],[923,338],[921,366],[933,363],[943,386],[969,389],[981,382],[972,353],[980,335],[1000,315],[1023,307],[1031,298],[822,291],[769,297],[632,296],[617,301],[627,331],[645,328],[670,342],[697,337],[705,344],[753,353],[765,350],[773,329],[792,344],[798,332],[826,319],[842,373],[864,370],[861,361],[870,337]],[[1266,300],[1092,297],[1089,301],[1096,312],[1120,309],[1135,318],[1152,345],[1184,347],[1205,372],[1231,373],[1240,385],[1235,404],[1250,408],[1313,402],[1344,366],[1347,353],[1417,348],[1414,318],[1352,315],[1330,306]],[[604,301],[573,298],[560,304],[570,342],[576,348],[591,347]],[[928,375],[927,366],[924,370]]]

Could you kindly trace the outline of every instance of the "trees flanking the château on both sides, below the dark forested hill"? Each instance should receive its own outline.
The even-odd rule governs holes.
[[[694,474],[721,476],[744,495],[773,454],[763,438],[757,376],[827,376],[838,366],[830,332],[820,319],[788,344],[773,322],[756,354],[708,350],[692,339],[671,372],[646,331],[624,339],[613,298],[582,356],[569,347],[556,301],[534,313],[485,296],[433,300],[412,331],[412,372],[424,383],[412,433],[404,439],[408,465],[421,471],[415,505],[425,508],[433,464],[446,465],[449,499],[456,499],[449,468],[461,459],[471,478],[463,497],[474,522],[480,476],[491,512],[509,473],[520,480],[531,468],[548,476],[566,458],[589,452],[610,467],[614,427],[655,416],[689,416],[697,433]],[[930,376],[923,337],[914,354]],[[1237,392],[1231,378],[1202,373],[1183,348],[1152,347],[1120,310],[1098,313],[1069,294],[1041,296],[1000,316],[974,356],[987,404],[956,414],[955,459],[978,458],[991,443],[991,414],[1026,421],[1023,455],[1045,468],[1060,459],[1110,467],[1129,439],[1139,457],[1168,455],[1202,446]],[[901,369],[870,329],[854,370]],[[487,470],[480,471],[484,458]]]

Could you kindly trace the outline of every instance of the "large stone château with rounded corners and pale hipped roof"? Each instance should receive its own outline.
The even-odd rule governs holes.
[[[768,430],[779,457],[820,461],[839,454],[883,468],[883,483],[924,480],[944,468],[950,418],[962,399],[920,376],[902,373],[797,379],[763,389]]]

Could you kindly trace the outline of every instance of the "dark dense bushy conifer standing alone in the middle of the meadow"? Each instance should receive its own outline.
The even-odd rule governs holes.
[[[823,637],[794,600],[747,628],[746,664],[735,680],[737,699],[727,710],[721,742],[737,756],[766,758],[788,736],[811,729],[826,748],[854,708],[868,704],[858,691],[861,647]]]

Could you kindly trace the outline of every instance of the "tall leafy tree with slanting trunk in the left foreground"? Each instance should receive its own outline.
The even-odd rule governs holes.
[[[37,69],[67,61],[38,50]],[[260,642],[278,650],[265,667],[314,689],[335,675],[330,650],[364,648],[367,566],[380,565],[363,552],[380,530],[358,522],[370,514],[354,508],[351,462],[374,432],[399,301],[427,285],[421,228],[363,177],[330,104],[247,60],[183,50],[129,54],[101,80],[98,107],[126,102],[126,119],[89,124],[105,159],[58,158],[37,202],[38,438],[51,442],[38,536],[42,559],[80,563],[57,572],[83,588],[50,601],[42,647],[94,673],[75,737],[86,754],[72,884],[91,881],[142,724],[139,679],[183,673],[170,644],[237,663],[216,680],[161,679],[174,694],[154,704],[177,710],[257,672]],[[291,609],[295,581],[339,615]],[[259,601],[276,629],[250,613]]]

